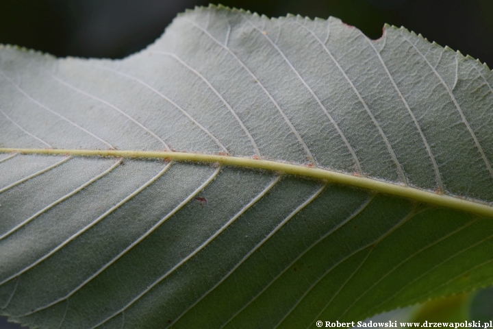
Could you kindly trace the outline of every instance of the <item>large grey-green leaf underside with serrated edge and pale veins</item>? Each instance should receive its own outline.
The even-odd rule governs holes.
[[[11,319],[313,328],[492,284],[493,75],[406,29],[197,8],[0,70]]]

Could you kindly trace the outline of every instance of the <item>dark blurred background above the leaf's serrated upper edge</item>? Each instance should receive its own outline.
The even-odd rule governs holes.
[[[159,37],[177,13],[207,0],[0,0],[0,43],[55,56],[123,58]],[[493,68],[493,0],[222,0],[267,16],[336,16],[370,38],[405,26]],[[217,4],[217,3],[216,3]],[[0,317],[0,328],[10,327]]]

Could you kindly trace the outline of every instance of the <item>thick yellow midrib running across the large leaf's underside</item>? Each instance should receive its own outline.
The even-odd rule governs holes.
[[[279,171],[290,175],[299,175],[307,178],[316,178],[338,184],[346,184],[367,188],[380,193],[397,195],[414,199],[419,202],[445,206],[457,210],[474,212],[479,215],[493,217],[493,207],[488,204],[451,197],[449,195],[437,194],[423,191],[418,188],[372,180],[370,178],[338,173],[327,169],[305,167],[299,164],[288,164],[270,160],[257,160],[254,158],[239,158],[235,156],[220,156],[215,154],[195,154],[186,152],[168,151],[131,151],[131,150],[100,150],[100,149],[11,149],[0,148],[0,153],[19,153],[19,154],[52,154],[52,155],[72,155],[72,156],[111,156],[122,158],[162,158],[177,161],[192,162],[218,162],[227,166],[238,166],[252,169],[265,169],[269,171]]]

